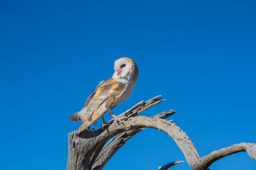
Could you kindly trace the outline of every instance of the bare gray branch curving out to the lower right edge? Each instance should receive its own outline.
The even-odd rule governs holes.
[[[195,170],[206,170],[208,167],[213,164],[213,162],[218,161],[218,159],[221,159],[223,157],[227,157],[230,154],[235,154],[238,152],[247,152],[249,156],[256,161],[256,144],[254,143],[240,143],[236,144],[230,147],[225,147],[223,149],[210,152],[205,157],[202,157],[201,159],[198,159],[197,162],[195,162],[192,169]]]

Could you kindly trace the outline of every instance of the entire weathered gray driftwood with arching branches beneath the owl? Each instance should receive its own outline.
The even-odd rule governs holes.
[[[127,140],[144,130],[144,128],[158,129],[172,137],[193,170],[207,170],[213,162],[237,152],[246,151],[249,156],[256,161],[256,145],[254,143],[240,143],[211,152],[205,157],[200,157],[188,135],[178,128],[178,126],[173,123],[173,120],[165,120],[165,118],[169,118],[169,116],[176,113],[173,110],[156,114],[150,118],[137,116],[139,113],[142,113],[142,111],[164,101],[159,97],[160,96],[156,96],[146,102],[141,101],[128,111],[119,115],[126,115],[128,117],[128,120],[124,121],[124,124],[117,126],[112,124],[107,128],[94,131],[87,128],[78,136],[75,135],[75,132],[70,132],[68,134],[67,170],[103,169],[117,150],[120,149]],[[108,140],[110,141],[107,142]],[[181,162],[171,162],[163,167],[159,166],[159,169],[168,169],[179,163]]]

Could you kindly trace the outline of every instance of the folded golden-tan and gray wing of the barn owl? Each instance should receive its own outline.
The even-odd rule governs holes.
[[[95,120],[100,118],[101,115],[106,113],[107,109],[114,103],[114,101],[122,95],[127,84],[108,79],[104,81],[94,92],[90,101],[86,101],[84,122],[75,132],[78,135],[82,130],[91,125]],[[89,99],[89,98],[88,98]]]

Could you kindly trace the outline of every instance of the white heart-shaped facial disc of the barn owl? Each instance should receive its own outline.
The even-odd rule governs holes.
[[[116,74],[117,79],[123,79],[131,72],[131,64],[128,60],[120,58],[114,62],[114,74]]]

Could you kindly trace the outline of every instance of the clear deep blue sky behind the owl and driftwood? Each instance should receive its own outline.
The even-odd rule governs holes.
[[[177,111],[171,119],[201,157],[256,142],[255,8],[242,0],[0,1],[1,169],[65,169],[68,132],[80,125],[69,116],[124,56],[139,79],[115,114],[162,94],[167,101],[142,115]],[[171,137],[148,129],[105,169],[180,160]],[[242,152],[210,169],[255,170],[256,162]]]

